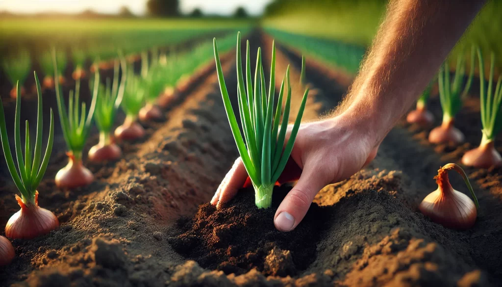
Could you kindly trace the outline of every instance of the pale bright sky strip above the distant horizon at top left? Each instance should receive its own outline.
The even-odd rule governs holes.
[[[239,7],[249,14],[259,15],[271,0],[180,0],[182,13],[200,8],[205,14],[230,15]],[[63,12],[78,13],[87,9],[106,14],[115,14],[127,6],[137,15],[145,13],[147,0],[0,0],[0,11],[13,13]]]

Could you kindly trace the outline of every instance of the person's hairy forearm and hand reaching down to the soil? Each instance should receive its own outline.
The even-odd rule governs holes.
[[[344,180],[378,151],[468,28],[484,1],[397,0],[347,97],[328,118],[302,124],[280,183],[298,180],[276,211],[280,231],[293,230],[320,189]],[[211,203],[219,207],[246,181],[238,158]]]

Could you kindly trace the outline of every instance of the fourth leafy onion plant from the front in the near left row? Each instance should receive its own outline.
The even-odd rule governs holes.
[[[115,129],[119,140],[136,140],[145,135],[145,129],[138,123],[138,114],[145,105],[143,80],[135,76],[133,69],[128,69],[128,80],[120,107],[126,113],[123,124]]]

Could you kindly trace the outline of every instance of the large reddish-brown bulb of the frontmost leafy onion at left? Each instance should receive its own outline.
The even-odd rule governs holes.
[[[33,239],[45,235],[59,227],[58,218],[50,211],[38,206],[38,192],[35,193],[34,203],[23,203],[16,195],[21,210],[15,213],[7,226],[5,235],[14,239]]]

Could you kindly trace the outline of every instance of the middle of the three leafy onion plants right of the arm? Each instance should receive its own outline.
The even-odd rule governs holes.
[[[462,99],[466,97],[471,86],[472,77],[474,76],[475,53],[473,47],[470,55],[470,72],[465,85],[463,85],[465,75],[464,55],[458,56],[455,76],[451,83],[448,64],[445,62],[441,66],[438,74],[438,85],[441,108],[443,109],[443,123],[431,131],[429,142],[458,144],[464,141],[464,135],[453,126],[453,123],[455,116],[462,109]]]

